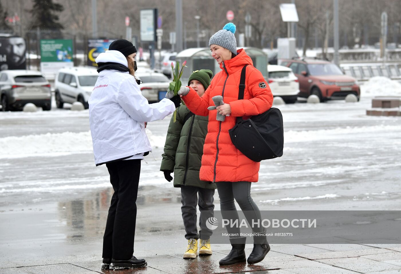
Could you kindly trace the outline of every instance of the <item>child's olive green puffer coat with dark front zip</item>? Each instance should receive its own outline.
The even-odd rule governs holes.
[[[171,118],[160,170],[174,170],[174,187],[188,185],[215,189],[215,183],[199,179],[208,117],[192,115],[183,124],[189,112],[185,105],[180,105],[177,109],[176,122],[174,123]]]

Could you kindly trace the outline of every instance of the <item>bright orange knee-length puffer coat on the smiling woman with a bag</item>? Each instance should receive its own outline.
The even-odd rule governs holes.
[[[244,99],[238,100],[239,80],[245,64],[250,66],[246,68]],[[259,163],[243,155],[233,145],[228,131],[234,127],[236,117],[245,116],[245,119],[270,109],[273,95],[245,50],[238,50],[237,56],[224,61],[224,64],[222,62],[220,68],[222,71],[215,75],[202,97],[193,89],[182,97],[190,111],[196,115],[209,115],[199,177],[203,181],[212,182],[257,182]],[[222,95],[224,103],[231,107],[231,115],[225,117],[224,122],[216,120],[216,110],[207,109],[215,105],[212,97],[216,95]]]

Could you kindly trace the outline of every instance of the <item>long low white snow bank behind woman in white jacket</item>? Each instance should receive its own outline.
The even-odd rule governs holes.
[[[164,147],[166,136],[153,135],[150,130],[146,133],[153,148]],[[93,152],[90,131],[3,137],[0,138],[0,147],[0,159]]]

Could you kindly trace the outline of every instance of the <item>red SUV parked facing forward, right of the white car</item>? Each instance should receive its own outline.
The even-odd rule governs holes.
[[[317,95],[320,102],[327,100],[341,100],[348,94],[360,96],[359,85],[356,79],[344,75],[335,64],[326,60],[304,58],[284,59],[282,66],[292,69],[300,83],[298,97],[308,98],[309,95]]]

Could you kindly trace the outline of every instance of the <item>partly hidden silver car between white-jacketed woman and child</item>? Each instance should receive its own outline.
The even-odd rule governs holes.
[[[142,95],[149,103],[158,102],[166,96],[171,80],[162,73],[137,73],[136,77],[143,83],[139,85]]]

